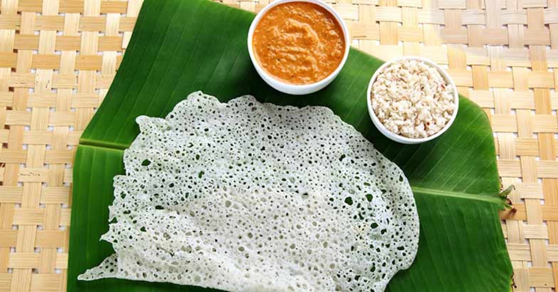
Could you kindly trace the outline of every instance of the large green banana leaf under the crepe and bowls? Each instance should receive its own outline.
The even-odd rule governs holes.
[[[99,241],[108,230],[112,178],[123,173],[123,150],[138,133],[134,119],[163,117],[195,90],[222,101],[252,94],[263,102],[331,108],[395,161],[407,175],[420,217],[419,252],[389,291],[507,291],[512,266],[498,211],[500,184],[492,130],[482,109],[460,99],[448,132],[421,145],[383,137],[367,113],[366,88],[382,64],[351,49],[324,90],[292,96],[268,87],[254,71],[246,36],[252,13],[204,0],[146,0],[107,97],[75,157],[68,291],[201,291],[193,286],[118,279],[78,281],[113,253]]]

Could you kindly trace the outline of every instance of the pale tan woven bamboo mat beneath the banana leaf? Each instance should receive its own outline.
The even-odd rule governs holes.
[[[186,1],[186,0],[185,0]],[[0,0],[0,291],[64,291],[75,146],[142,0]],[[268,0],[224,0],[258,11]],[[330,1],[332,2],[332,1]],[[558,0],[337,0],[353,45],[447,65],[485,109],[516,291],[558,285]]]

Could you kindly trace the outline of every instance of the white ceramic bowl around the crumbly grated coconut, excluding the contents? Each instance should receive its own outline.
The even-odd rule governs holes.
[[[425,64],[436,68],[440,72],[442,77],[446,80],[446,83],[448,83],[448,85],[451,86],[454,89],[453,91],[454,91],[454,100],[455,100],[455,111],[454,111],[453,115],[451,116],[451,119],[444,126],[444,128],[442,128],[442,130],[440,130],[439,132],[435,133],[432,136],[428,136],[428,137],[425,137],[425,138],[403,137],[403,136],[398,135],[398,134],[396,134],[392,131],[389,131],[386,128],[386,126],[384,126],[382,124],[382,122],[379,121],[378,117],[376,116],[376,113],[374,113],[374,109],[372,108],[372,99],[371,99],[372,84],[374,82],[376,82],[376,78],[378,77],[378,74],[380,73],[380,71],[382,71],[382,69],[386,68],[386,66],[389,66],[393,62],[399,61],[399,60],[422,61]],[[449,129],[449,127],[451,126],[451,124],[455,121],[455,117],[457,116],[457,112],[458,112],[458,109],[459,109],[459,93],[457,92],[457,88],[455,87],[455,83],[451,79],[450,75],[444,69],[442,69],[439,65],[434,63],[434,61],[429,60],[429,59],[425,59],[425,58],[421,58],[421,57],[415,57],[415,56],[405,56],[405,57],[401,57],[401,58],[396,58],[396,59],[393,59],[393,60],[389,60],[386,63],[384,63],[382,66],[380,66],[380,68],[378,68],[378,70],[376,70],[376,72],[374,72],[374,75],[372,75],[372,78],[370,79],[370,83],[368,84],[368,90],[367,90],[366,96],[367,96],[367,103],[368,103],[368,114],[370,115],[370,118],[372,119],[372,122],[374,123],[374,125],[378,128],[378,130],[384,136],[390,138],[393,141],[400,142],[400,143],[403,143],[403,144],[424,143],[426,141],[434,140],[436,137],[439,137],[445,131],[447,131]]]

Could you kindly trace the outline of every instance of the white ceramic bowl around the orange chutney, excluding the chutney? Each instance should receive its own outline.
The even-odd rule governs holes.
[[[324,7],[327,11],[331,13],[331,15],[335,17],[337,22],[339,22],[341,29],[343,30],[343,36],[345,37],[345,54],[343,55],[343,60],[341,60],[341,63],[339,63],[339,66],[337,66],[335,71],[329,74],[326,78],[319,80],[318,82],[310,83],[310,84],[302,84],[302,85],[282,82],[281,80],[274,78],[272,75],[268,74],[265,70],[263,70],[262,66],[260,66],[258,61],[256,60],[256,56],[254,55],[254,51],[252,49],[252,37],[254,35],[254,30],[256,30],[256,26],[259,20],[261,20],[262,16],[272,7],[287,2],[310,2],[310,3],[318,4],[321,7]],[[254,18],[254,20],[252,21],[252,25],[250,25],[250,30],[248,31],[248,53],[250,54],[250,59],[252,60],[252,64],[254,64],[254,67],[256,68],[256,71],[258,72],[259,76],[261,76],[262,79],[271,87],[279,90],[280,92],[284,92],[288,94],[296,94],[296,95],[309,94],[309,93],[314,93],[326,87],[328,84],[330,84],[333,81],[333,79],[335,79],[337,75],[339,75],[339,71],[341,71],[341,68],[343,68],[343,65],[345,65],[345,61],[347,61],[347,56],[349,55],[349,47],[350,47],[349,41],[350,41],[349,31],[347,30],[347,25],[345,25],[345,22],[343,22],[343,18],[341,18],[339,13],[337,13],[328,4],[319,0],[278,0],[270,4],[267,4],[266,7],[264,7],[261,11],[258,12],[256,18]]]

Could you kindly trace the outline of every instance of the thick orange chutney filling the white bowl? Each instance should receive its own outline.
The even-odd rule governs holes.
[[[318,82],[333,73],[345,54],[343,29],[325,8],[287,2],[268,10],[252,37],[259,65],[291,84]]]

